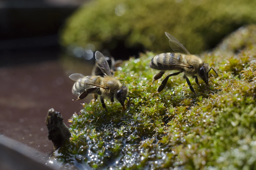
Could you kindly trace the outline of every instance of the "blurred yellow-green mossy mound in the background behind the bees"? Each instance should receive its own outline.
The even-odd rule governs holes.
[[[131,51],[123,48],[140,45],[158,53],[169,52],[167,31],[190,53],[198,54],[240,26],[255,23],[253,6],[256,1],[251,0],[94,0],[67,20],[61,44],[93,44],[95,50],[119,50],[112,55],[120,56]]]

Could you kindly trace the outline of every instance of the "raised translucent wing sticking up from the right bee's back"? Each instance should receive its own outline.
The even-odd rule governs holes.
[[[182,45],[182,43],[180,43],[175,37],[173,37],[168,32],[165,32],[165,35],[169,38],[169,45],[174,52],[190,54],[188,50]]]

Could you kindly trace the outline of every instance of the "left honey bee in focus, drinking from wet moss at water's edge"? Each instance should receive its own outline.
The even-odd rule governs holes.
[[[88,94],[100,95],[100,101],[103,108],[106,109],[104,103],[104,97],[114,102],[114,99],[118,100],[123,111],[125,110],[124,102],[128,101],[130,106],[130,96],[127,96],[129,89],[120,83],[119,80],[113,78],[109,64],[102,53],[96,51],[95,53],[96,65],[103,72],[104,77],[101,76],[84,76],[82,74],[72,74],[69,76],[71,80],[76,81],[72,88],[72,93],[77,95],[78,98],[72,101],[79,101],[84,99]],[[129,100],[126,98],[129,97]]]

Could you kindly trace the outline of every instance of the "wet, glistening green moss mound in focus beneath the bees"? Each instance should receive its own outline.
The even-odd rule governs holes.
[[[239,50],[240,47],[242,50]],[[222,49],[223,48],[223,49]],[[256,26],[239,29],[201,57],[219,74],[189,89],[183,75],[161,93],[155,54],[125,62],[115,76],[129,87],[131,107],[100,101],[72,116],[70,141],[58,161],[98,169],[253,169],[256,165]],[[171,167],[171,168],[169,168]]]

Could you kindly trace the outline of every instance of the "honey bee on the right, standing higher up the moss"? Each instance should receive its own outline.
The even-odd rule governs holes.
[[[165,35],[169,38],[169,45],[175,53],[162,53],[152,58],[149,67],[161,70],[157,75],[155,75],[153,81],[161,78],[166,70],[178,70],[178,72],[168,75],[162,81],[161,86],[159,86],[157,91],[160,92],[164,89],[169,77],[176,76],[184,72],[183,78],[186,79],[190,90],[196,95],[188,76],[195,78],[199,87],[200,84],[198,83],[197,76],[199,76],[208,85],[208,73],[211,69],[214,69],[212,67],[209,69],[209,64],[205,63],[201,58],[190,54],[188,50],[171,34],[165,32]],[[218,76],[215,70],[214,72]]]

